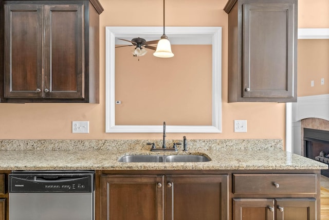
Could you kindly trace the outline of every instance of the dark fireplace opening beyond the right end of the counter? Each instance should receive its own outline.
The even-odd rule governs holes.
[[[304,156],[329,164],[329,131],[304,129]],[[321,174],[329,177],[329,169]]]

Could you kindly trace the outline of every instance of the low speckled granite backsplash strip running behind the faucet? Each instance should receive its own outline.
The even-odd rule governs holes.
[[[167,140],[167,148],[182,140]],[[0,140],[0,150],[148,150],[162,140]],[[178,145],[178,150],[182,145]],[[191,139],[189,150],[283,150],[281,139]]]

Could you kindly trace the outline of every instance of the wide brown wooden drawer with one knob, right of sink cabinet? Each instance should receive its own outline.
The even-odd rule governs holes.
[[[316,194],[316,174],[233,174],[233,193]]]

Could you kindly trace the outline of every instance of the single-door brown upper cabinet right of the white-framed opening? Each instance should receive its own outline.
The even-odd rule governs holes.
[[[230,0],[228,102],[297,101],[297,0]]]

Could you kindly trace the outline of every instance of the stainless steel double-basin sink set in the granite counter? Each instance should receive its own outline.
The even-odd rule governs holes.
[[[119,162],[207,162],[211,159],[205,155],[127,155]]]

